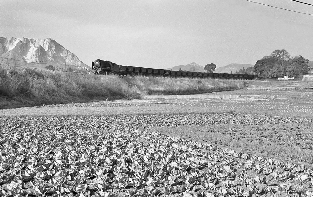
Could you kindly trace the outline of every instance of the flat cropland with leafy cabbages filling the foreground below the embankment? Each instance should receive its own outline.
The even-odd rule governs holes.
[[[197,102],[73,103],[25,108],[18,117],[0,111],[6,113],[0,118],[0,196],[313,196],[310,160],[253,153],[211,143],[208,135],[197,137],[200,132],[221,133],[237,141],[247,139],[247,145],[258,139],[268,149],[274,143],[293,147],[290,143],[300,152],[311,151],[312,118],[244,114],[236,109],[168,114],[155,107],[218,108],[211,101]],[[154,107],[155,113],[58,116],[62,109],[72,114],[99,107],[126,111]],[[28,115],[28,109],[38,113]],[[50,110],[55,115],[42,112]],[[288,133],[275,125],[286,125]],[[179,131],[187,127],[187,133]],[[201,128],[205,129],[198,131]]]

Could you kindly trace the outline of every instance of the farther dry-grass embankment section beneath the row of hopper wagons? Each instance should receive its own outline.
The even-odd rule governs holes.
[[[240,90],[244,80],[214,80],[190,78],[128,77],[128,83],[138,87],[146,95],[191,95],[230,90]]]

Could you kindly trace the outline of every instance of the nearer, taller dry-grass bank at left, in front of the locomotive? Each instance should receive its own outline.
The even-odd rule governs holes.
[[[128,97],[140,95],[117,76],[0,67],[0,109]]]

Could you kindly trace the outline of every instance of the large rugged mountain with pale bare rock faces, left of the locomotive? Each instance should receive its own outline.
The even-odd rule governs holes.
[[[0,62],[19,65],[34,65],[38,67],[49,64],[73,65],[77,69],[87,69],[90,66],[84,64],[78,57],[65,49],[52,38],[4,38],[0,37]],[[10,62],[9,62],[10,61]],[[26,62],[25,62],[26,61]],[[32,62],[32,63],[27,63]],[[37,64],[35,64],[37,63]]]

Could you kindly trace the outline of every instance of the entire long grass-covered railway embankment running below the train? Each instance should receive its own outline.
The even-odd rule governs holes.
[[[240,90],[242,80],[119,77],[0,67],[0,109]]]

